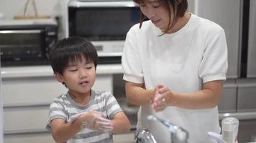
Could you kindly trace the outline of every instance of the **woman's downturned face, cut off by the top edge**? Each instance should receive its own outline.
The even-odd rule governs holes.
[[[142,14],[147,16],[147,18],[162,31],[165,31],[165,29],[168,28],[168,9],[160,0],[147,0],[145,3],[140,4],[140,10],[142,11]]]

